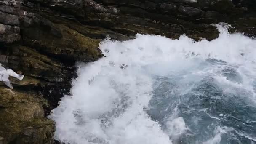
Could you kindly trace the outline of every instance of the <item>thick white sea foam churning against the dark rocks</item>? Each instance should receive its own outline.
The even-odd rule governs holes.
[[[174,115],[163,130],[145,112],[152,98],[153,76],[190,69],[183,75],[188,77],[186,82],[179,82],[184,87],[189,86],[185,85],[187,81],[200,80],[205,73],[216,73],[214,77],[220,83],[241,87],[252,85],[253,79],[248,77],[256,78],[256,41],[242,34],[230,35],[223,24],[217,26],[221,34],[211,42],[195,42],[185,35],[171,40],[138,34],[133,40],[100,43],[106,57],[79,64],[71,96],[64,96],[49,116],[56,121],[55,138],[70,144],[172,144],[188,128],[182,117]],[[218,73],[220,67],[201,66],[205,59],[239,66],[243,82],[227,81]],[[216,130],[205,144],[219,144],[221,133],[221,128]]]

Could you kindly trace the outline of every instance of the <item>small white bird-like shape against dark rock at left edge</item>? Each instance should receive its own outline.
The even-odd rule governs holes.
[[[15,77],[19,80],[22,80],[24,75],[19,75],[16,72],[14,72],[12,69],[5,69],[2,64],[0,63],[0,81],[5,83],[9,88],[13,89],[13,85],[11,84],[11,81],[9,80],[9,76]]]

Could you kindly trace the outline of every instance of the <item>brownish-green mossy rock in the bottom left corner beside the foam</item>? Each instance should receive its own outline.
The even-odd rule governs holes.
[[[52,144],[54,122],[41,96],[0,87],[0,144]]]

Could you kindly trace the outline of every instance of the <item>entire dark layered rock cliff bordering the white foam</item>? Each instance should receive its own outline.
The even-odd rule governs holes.
[[[53,144],[46,116],[69,93],[76,61],[95,61],[109,35],[195,40],[218,37],[212,23],[256,33],[255,0],[0,0],[0,62],[25,75],[0,87],[0,144]]]

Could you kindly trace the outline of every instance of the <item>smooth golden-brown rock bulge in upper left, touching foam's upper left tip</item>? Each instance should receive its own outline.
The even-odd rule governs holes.
[[[34,32],[37,31],[37,33]],[[100,40],[85,37],[79,32],[61,24],[51,25],[51,29],[24,28],[24,41],[38,51],[59,56],[62,61],[92,61],[99,59]],[[50,34],[50,35],[49,35]],[[90,53],[88,55],[87,53]]]

